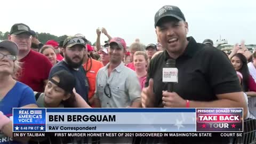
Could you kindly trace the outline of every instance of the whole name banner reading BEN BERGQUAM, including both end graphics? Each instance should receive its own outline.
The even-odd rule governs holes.
[[[242,108],[13,108],[13,132],[243,132]]]

